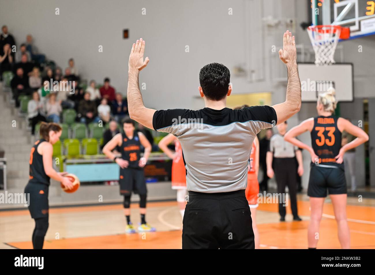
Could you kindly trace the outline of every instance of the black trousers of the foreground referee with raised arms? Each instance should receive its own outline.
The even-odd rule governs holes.
[[[183,249],[254,249],[251,212],[245,190],[189,191],[182,229]]]

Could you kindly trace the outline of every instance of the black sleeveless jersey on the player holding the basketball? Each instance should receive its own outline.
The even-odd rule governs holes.
[[[29,170],[29,182],[30,183],[42,183],[49,185],[49,177],[46,175],[43,166],[43,156],[37,151],[37,147],[40,143],[46,141],[44,139],[37,140],[30,152],[30,170]]]

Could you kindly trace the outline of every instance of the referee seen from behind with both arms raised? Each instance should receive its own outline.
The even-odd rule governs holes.
[[[166,51],[169,44],[166,43]],[[234,48],[236,43],[234,43]],[[287,65],[286,100],[240,110],[226,108],[232,92],[230,73],[222,64],[199,72],[201,110],[153,110],[144,106],[138,76],[148,64],[145,42],[133,44],[129,56],[127,100],[132,119],[181,143],[189,201],[185,208],[182,248],[254,248],[251,213],[245,198],[251,144],[262,129],[282,123],[300,110],[301,84],[294,36],[284,33],[280,59]]]

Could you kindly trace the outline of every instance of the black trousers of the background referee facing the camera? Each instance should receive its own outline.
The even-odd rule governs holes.
[[[285,186],[289,189],[289,202],[292,208],[293,217],[298,216],[297,212],[297,177],[296,160],[294,158],[273,158],[276,182],[278,184],[278,193],[285,193]],[[285,217],[286,202],[279,201],[279,214]]]

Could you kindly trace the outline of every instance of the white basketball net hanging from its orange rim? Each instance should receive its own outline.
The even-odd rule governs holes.
[[[340,38],[341,27],[336,25],[318,25],[308,27],[308,33],[315,52],[315,64],[331,65]]]

